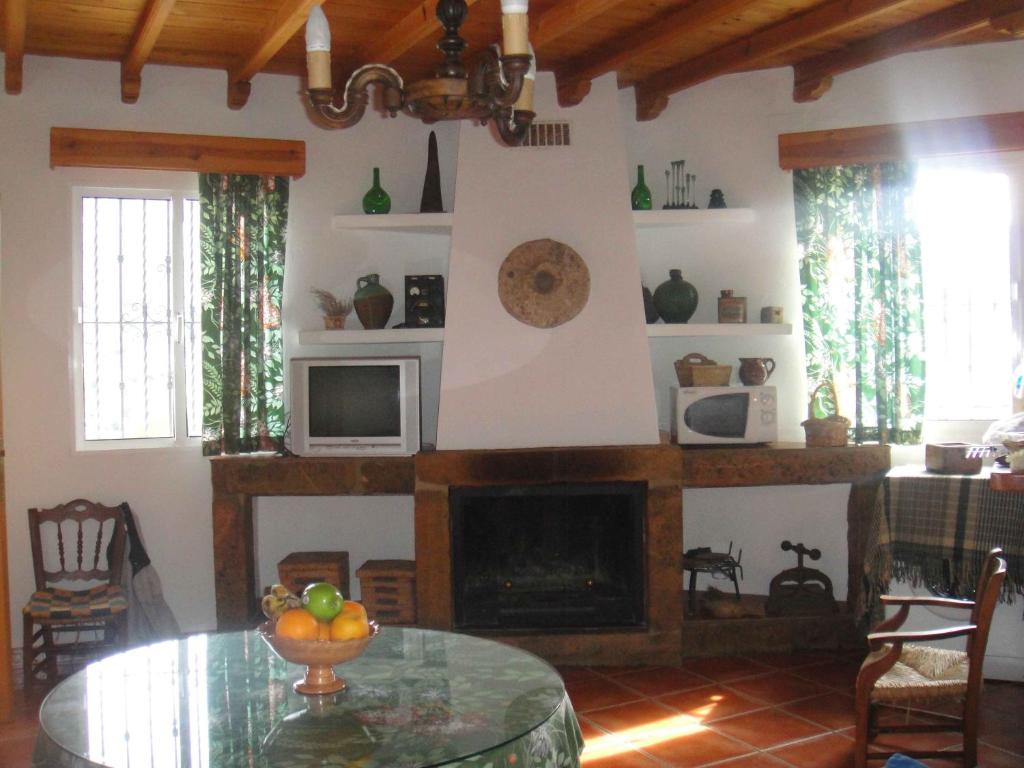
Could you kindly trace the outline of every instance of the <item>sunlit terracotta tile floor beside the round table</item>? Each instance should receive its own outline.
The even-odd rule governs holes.
[[[584,768],[846,768],[853,765],[860,658],[815,651],[559,672],[587,740]],[[956,734],[889,738],[895,749],[958,744]],[[979,752],[982,768],[1024,766],[1024,686],[986,683]]]

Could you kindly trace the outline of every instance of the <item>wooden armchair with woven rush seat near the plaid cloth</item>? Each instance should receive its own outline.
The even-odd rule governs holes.
[[[893,597],[884,595],[885,605],[898,606],[895,614],[882,622],[867,636],[869,653],[857,675],[855,710],[857,716],[854,765],[864,768],[868,760],[885,760],[893,752],[871,752],[867,748],[879,733],[958,731],[963,749],[946,752],[900,750],[912,758],[961,757],[967,768],[978,763],[978,698],[981,694],[982,665],[992,612],[1007,575],[1001,549],[993,549],[982,563],[974,600],[941,597]],[[967,624],[924,632],[897,632],[906,621],[911,605],[932,605],[970,610]],[[967,638],[965,650],[949,650],[909,641]],[[921,725],[878,724],[880,706],[933,706],[954,702],[955,716],[929,714]]]

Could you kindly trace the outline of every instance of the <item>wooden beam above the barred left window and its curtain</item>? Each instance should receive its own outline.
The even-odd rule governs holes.
[[[250,173],[298,178],[306,172],[304,141],[187,133],[50,128],[51,168]]]

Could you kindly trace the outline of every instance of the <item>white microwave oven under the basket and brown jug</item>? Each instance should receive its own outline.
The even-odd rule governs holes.
[[[681,445],[778,439],[775,387],[673,387],[673,440]]]

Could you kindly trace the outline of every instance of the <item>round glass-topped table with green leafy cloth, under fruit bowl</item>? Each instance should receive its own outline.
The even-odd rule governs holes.
[[[43,701],[38,768],[565,768],[583,738],[558,673],[525,651],[386,627],[337,667],[347,688],[296,693],[304,669],[255,632],[110,656]]]

